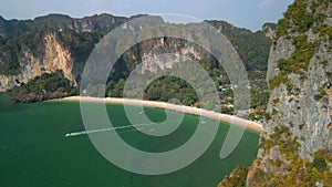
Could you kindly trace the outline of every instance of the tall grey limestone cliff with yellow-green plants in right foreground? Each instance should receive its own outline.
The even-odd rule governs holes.
[[[331,15],[331,0],[295,0],[279,21],[257,159],[219,186],[332,186]]]

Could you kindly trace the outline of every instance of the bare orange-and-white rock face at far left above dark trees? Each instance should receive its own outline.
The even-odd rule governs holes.
[[[0,91],[6,91],[14,85],[27,83],[42,73],[53,73],[62,70],[64,76],[75,84],[72,74],[73,62],[69,50],[64,49],[55,39],[54,33],[46,34],[43,39],[43,51],[35,54],[30,49],[18,54],[20,73],[15,75],[0,75]]]

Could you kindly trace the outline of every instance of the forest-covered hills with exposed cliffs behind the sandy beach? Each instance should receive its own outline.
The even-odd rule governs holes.
[[[34,20],[4,20],[0,17],[0,90],[11,90],[17,102],[37,102],[77,94],[83,67],[95,44],[118,25],[124,24],[133,30],[142,29],[139,25],[127,25],[127,21],[139,17],[144,15],[123,18],[104,13],[73,19],[62,14],[49,14]],[[164,22],[158,17],[155,17],[154,21],[156,24]],[[276,25],[268,23],[262,31],[251,32],[225,21],[207,22],[228,38],[242,59],[251,86],[250,104],[252,108],[258,108],[257,117],[261,117],[268,102],[267,62],[270,37]],[[125,80],[131,71],[144,58],[165,52],[187,55],[198,61],[216,82],[221,110],[225,113],[234,112],[234,85],[229,83],[222,66],[196,44],[173,38],[144,41],[125,52],[115,64],[116,71],[110,74],[105,96],[122,96]],[[152,67],[147,70],[153,71]],[[60,83],[52,84],[52,87],[46,86],[45,83],[50,80],[58,80]],[[70,84],[65,83],[65,80]],[[145,91],[146,100],[168,101],[173,97],[186,105],[198,102],[193,87],[177,77],[160,77]],[[251,117],[256,118],[255,115]]]

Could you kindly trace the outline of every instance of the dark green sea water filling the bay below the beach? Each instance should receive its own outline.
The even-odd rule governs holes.
[[[107,112],[116,126],[129,124],[122,105],[107,105]],[[145,112],[154,122],[166,117],[163,110]],[[139,149],[165,152],[186,143],[197,123],[197,116],[186,115],[180,127],[163,137],[138,133],[134,127],[116,133]],[[221,122],[210,147],[191,165],[166,175],[137,175],[111,164],[87,135],[65,137],[66,133],[84,131],[80,103],[13,104],[8,94],[0,94],[0,186],[215,187],[236,165],[250,164],[257,154],[259,135],[247,131],[237,149],[220,159],[228,128]]]

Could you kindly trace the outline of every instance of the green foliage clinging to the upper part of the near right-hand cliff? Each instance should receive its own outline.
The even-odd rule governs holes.
[[[326,15],[315,13],[317,7],[321,3],[325,2],[313,1],[310,6],[311,11],[308,11],[308,2],[295,0],[294,3],[288,8],[287,12],[284,12],[284,18],[279,21],[277,31],[278,38],[289,37],[290,33],[297,33],[297,37],[293,37],[292,39],[295,50],[291,58],[278,61],[280,73],[270,80],[271,90],[276,89],[281,83],[286,83],[290,90],[291,85],[289,80],[286,77],[290,73],[299,74],[301,79],[305,77],[305,71],[308,70],[311,58],[319,50],[321,39],[308,41],[307,34],[303,34],[304,32],[312,28],[312,31],[314,33],[319,33],[321,38],[325,38],[328,35],[331,40],[331,27],[322,25]],[[325,67],[326,62],[321,61],[321,64]]]

